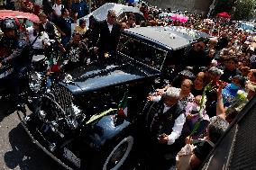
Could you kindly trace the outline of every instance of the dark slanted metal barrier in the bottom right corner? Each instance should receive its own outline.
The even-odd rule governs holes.
[[[202,169],[256,169],[256,96],[230,125]]]

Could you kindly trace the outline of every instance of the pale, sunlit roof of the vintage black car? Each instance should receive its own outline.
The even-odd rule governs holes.
[[[126,29],[124,32],[154,41],[167,49],[181,49],[200,37],[209,37],[205,32],[177,26],[137,27]]]

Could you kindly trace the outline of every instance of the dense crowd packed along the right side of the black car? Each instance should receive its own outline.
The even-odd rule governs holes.
[[[241,30],[236,22],[227,18],[209,19],[184,12],[187,21],[181,22],[160,16],[161,9],[142,8],[151,26],[182,26],[210,35],[187,48],[174,66],[178,76],[148,97],[149,101],[162,106],[155,106],[156,114],[151,124],[160,144],[156,150],[160,152],[165,143],[160,154],[171,150],[173,155],[168,158],[169,163],[174,164],[176,159],[178,169],[197,169],[229,123],[255,94],[255,32]],[[164,11],[168,13],[169,9]],[[175,118],[170,119],[169,115]],[[184,136],[186,143],[181,144],[179,141],[185,139]]]

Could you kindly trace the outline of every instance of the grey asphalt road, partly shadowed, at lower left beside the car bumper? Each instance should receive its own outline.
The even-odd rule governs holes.
[[[16,112],[5,115],[12,106],[0,100],[0,169],[63,170],[23,130]]]

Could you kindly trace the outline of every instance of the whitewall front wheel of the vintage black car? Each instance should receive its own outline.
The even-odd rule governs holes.
[[[128,136],[118,141],[119,142],[116,142],[116,145],[113,145],[114,147],[112,147],[112,149],[108,149],[107,153],[109,154],[106,154],[105,159],[103,160],[103,166],[102,166],[103,170],[120,169],[123,166],[126,159],[129,157],[133,149],[133,141],[134,141],[133,136]],[[120,154],[120,152],[121,152],[121,155],[118,155]],[[111,159],[114,159],[114,158],[118,158],[118,162],[115,162],[115,163],[111,162]]]

